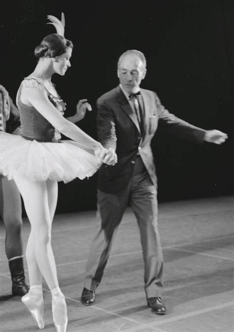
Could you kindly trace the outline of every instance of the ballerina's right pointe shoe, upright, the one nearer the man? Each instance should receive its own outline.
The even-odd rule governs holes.
[[[63,294],[52,296],[52,312],[57,332],[66,332],[68,325],[67,305]]]

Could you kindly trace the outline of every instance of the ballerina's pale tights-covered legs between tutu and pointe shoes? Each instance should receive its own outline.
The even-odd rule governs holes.
[[[30,285],[41,285],[44,277],[50,290],[58,287],[51,247],[51,226],[58,198],[57,181],[31,181],[15,177],[28,215],[31,232],[26,248]]]

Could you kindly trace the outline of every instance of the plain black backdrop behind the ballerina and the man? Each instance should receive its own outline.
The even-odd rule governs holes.
[[[233,194],[233,1],[2,1],[0,83],[14,100],[36,65],[34,48],[55,33],[46,16],[62,11],[75,47],[72,68],[53,81],[67,115],[88,98],[93,111],[79,126],[96,137],[95,101],[118,84],[119,55],[139,49],[148,60],[143,88],[176,116],[229,135],[222,146],[199,146],[159,129],[152,142],[159,202]],[[59,183],[57,212],[95,209],[96,180]]]

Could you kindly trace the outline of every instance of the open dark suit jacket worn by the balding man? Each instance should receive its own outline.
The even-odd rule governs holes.
[[[98,189],[103,192],[115,194],[128,184],[138,153],[153,184],[157,186],[151,140],[158,125],[190,141],[198,143],[203,141],[205,130],[169,113],[161,105],[155,92],[141,89],[141,95],[144,102],[143,134],[120,86],[97,100],[98,139],[105,148],[114,148],[118,157],[115,166],[103,164],[99,170]]]

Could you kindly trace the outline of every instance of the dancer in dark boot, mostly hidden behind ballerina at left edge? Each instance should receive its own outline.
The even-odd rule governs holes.
[[[0,131],[20,135],[19,110],[14,105],[7,90],[0,84]],[[0,175],[0,216],[3,220],[5,253],[9,262],[12,280],[12,294],[23,296],[29,291],[25,282],[22,243],[21,197],[14,180],[7,180]]]

